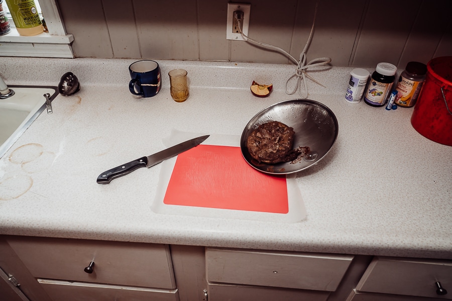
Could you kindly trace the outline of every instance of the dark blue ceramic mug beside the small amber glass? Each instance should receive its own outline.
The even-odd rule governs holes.
[[[141,60],[129,66],[132,80],[129,82],[129,90],[132,94],[152,97],[159,91],[161,85],[159,64],[151,60]]]

